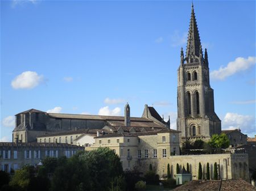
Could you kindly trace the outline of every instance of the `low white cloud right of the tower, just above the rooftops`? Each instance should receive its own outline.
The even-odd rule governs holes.
[[[256,134],[255,117],[238,113],[226,113],[222,120],[222,129],[240,128],[242,133],[254,136]]]

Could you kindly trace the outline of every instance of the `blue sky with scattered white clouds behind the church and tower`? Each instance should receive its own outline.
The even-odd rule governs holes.
[[[255,1],[194,1],[222,129],[255,133]],[[1,141],[14,115],[140,117],[176,128],[177,68],[191,1],[1,1]]]

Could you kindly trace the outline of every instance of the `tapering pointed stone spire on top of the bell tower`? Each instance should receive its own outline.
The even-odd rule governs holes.
[[[191,19],[189,23],[188,43],[187,43],[187,52],[186,52],[186,58],[188,60],[188,63],[195,62],[195,58],[193,58],[194,56],[200,57],[200,47],[201,47],[201,42],[199,37],[199,31],[196,24],[194,6],[192,2]]]

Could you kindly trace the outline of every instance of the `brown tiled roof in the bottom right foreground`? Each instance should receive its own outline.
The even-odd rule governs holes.
[[[235,180],[193,180],[181,185],[174,191],[253,191],[256,190],[249,182],[242,179]]]

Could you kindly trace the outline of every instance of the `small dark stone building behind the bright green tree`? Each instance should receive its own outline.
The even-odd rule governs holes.
[[[241,129],[222,130],[221,133],[225,133],[228,136],[229,144],[232,147],[246,144],[247,135],[243,134]]]

